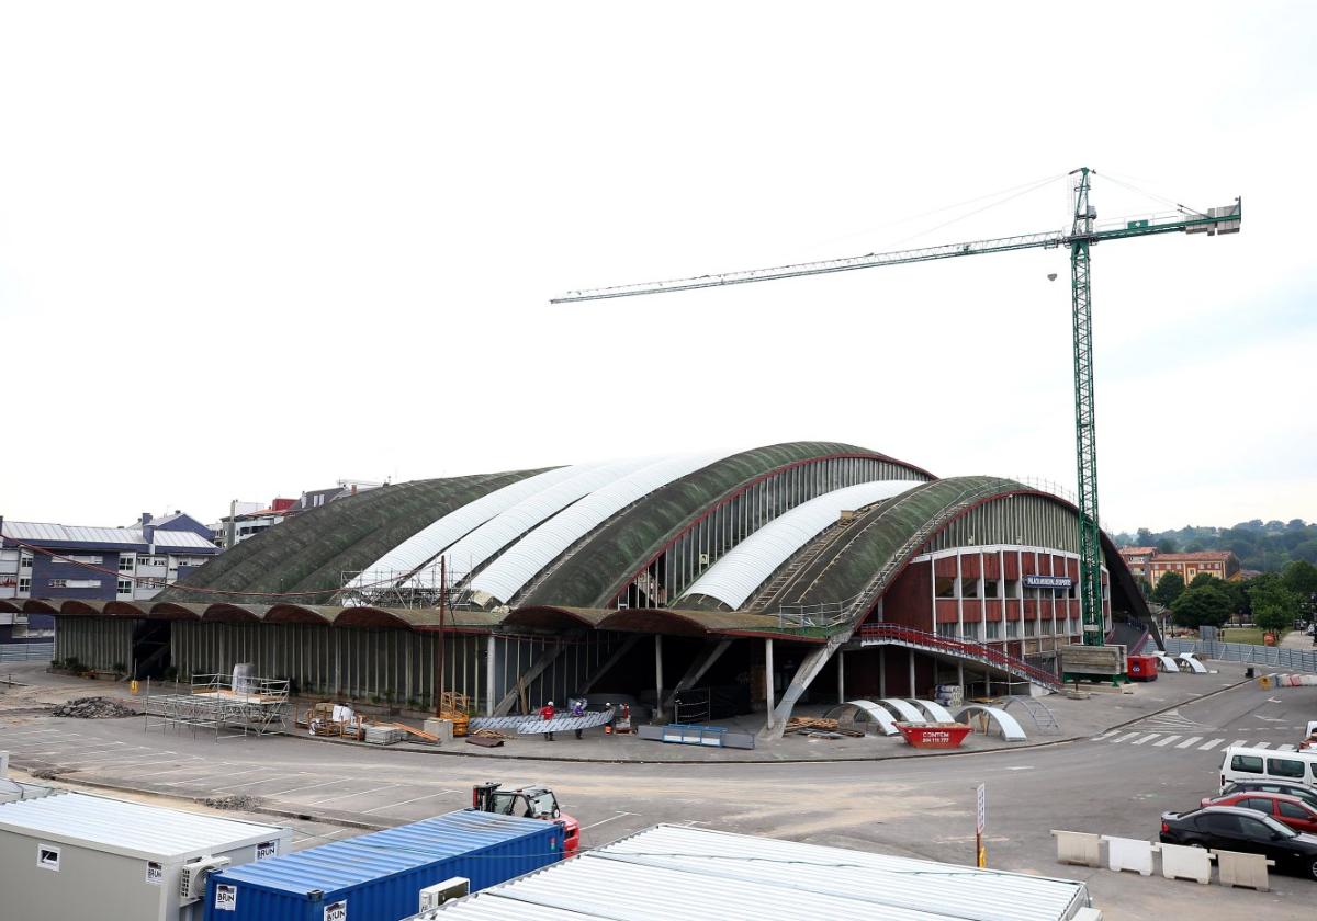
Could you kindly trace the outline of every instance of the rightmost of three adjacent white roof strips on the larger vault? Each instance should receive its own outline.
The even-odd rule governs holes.
[[[470,588],[510,601],[545,566],[568,547],[631,503],[673,480],[694,474],[738,451],[710,451],[665,458],[644,466],[553,516],[512,545],[507,553],[477,574]]]

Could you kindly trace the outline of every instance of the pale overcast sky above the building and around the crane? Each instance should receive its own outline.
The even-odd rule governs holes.
[[[1077,166],[1245,204],[1093,251],[1104,524],[1317,518],[1312,4],[0,9],[12,520],[795,439],[1072,488],[1065,251],[548,299],[1059,229]]]

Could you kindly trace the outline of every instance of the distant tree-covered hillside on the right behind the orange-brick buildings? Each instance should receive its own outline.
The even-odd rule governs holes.
[[[1317,564],[1317,522],[1303,518],[1285,521],[1241,521],[1233,528],[1198,528],[1151,532],[1139,528],[1134,534],[1115,534],[1118,546],[1156,547],[1162,553],[1195,553],[1197,550],[1231,550],[1246,570],[1280,572],[1289,563],[1303,560]]]

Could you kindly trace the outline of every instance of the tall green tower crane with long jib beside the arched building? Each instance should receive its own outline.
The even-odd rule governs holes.
[[[697,288],[719,288],[730,284],[751,282],[774,282],[803,275],[827,275],[856,268],[878,268],[881,266],[901,266],[911,262],[934,262],[965,255],[988,253],[1010,253],[1027,249],[1069,250],[1071,257],[1071,307],[1075,351],[1075,455],[1079,472],[1079,547],[1080,547],[1080,612],[1083,617],[1084,643],[1101,646],[1105,642],[1102,618],[1102,546],[1097,513],[1097,439],[1094,437],[1093,414],[1093,304],[1089,291],[1089,259],[1096,243],[1108,239],[1130,239],[1152,237],[1164,233],[1238,233],[1242,218],[1242,200],[1205,212],[1177,205],[1172,216],[1148,217],[1117,222],[1114,226],[1098,226],[1097,211],[1089,203],[1089,188],[1096,171],[1088,167],[1073,170],[1073,217],[1069,232],[1048,230],[1018,237],[998,237],[996,239],[975,239],[942,246],[927,246],[892,253],[871,253],[868,255],[844,259],[827,259],[773,268],[752,268],[747,271],[723,272],[719,275],[699,275],[697,278],[670,282],[649,282],[643,284],[623,284],[610,288],[569,291],[551,299],[551,304],[573,301],[606,300],[611,297],[631,297],[636,295],[657,295],[670,291],[693,291]]]

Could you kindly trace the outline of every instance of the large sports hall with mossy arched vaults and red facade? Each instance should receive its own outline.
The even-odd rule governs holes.
[[[793,442],[362,492],[228,550],[151,600],[0,601],[55,657],[138,676],[291,679],[302,695],[475,713],[628,695],[670,718],[1058,687],[1080,642],[1077,509],[996,476]],[[1109,637],[1155,630],[1102,537]],[[445,597],[446,604],[440,604]],[[0,608],[4,610],[5,608]],[[769,729],[769,732],[772,732]]]

